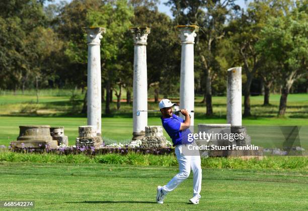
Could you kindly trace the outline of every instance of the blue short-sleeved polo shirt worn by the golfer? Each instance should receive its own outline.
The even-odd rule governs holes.
[[[161,119],[163,127],[165,128],[166,132],[172,139],[173,146],[179,144],[191,143],[188,141],[188,134],[191,133],[189,128],[180,131],[181,123],[184,122],[184,120],[181,117],[172,114],[172,117],[169,118],[161,117]]]

